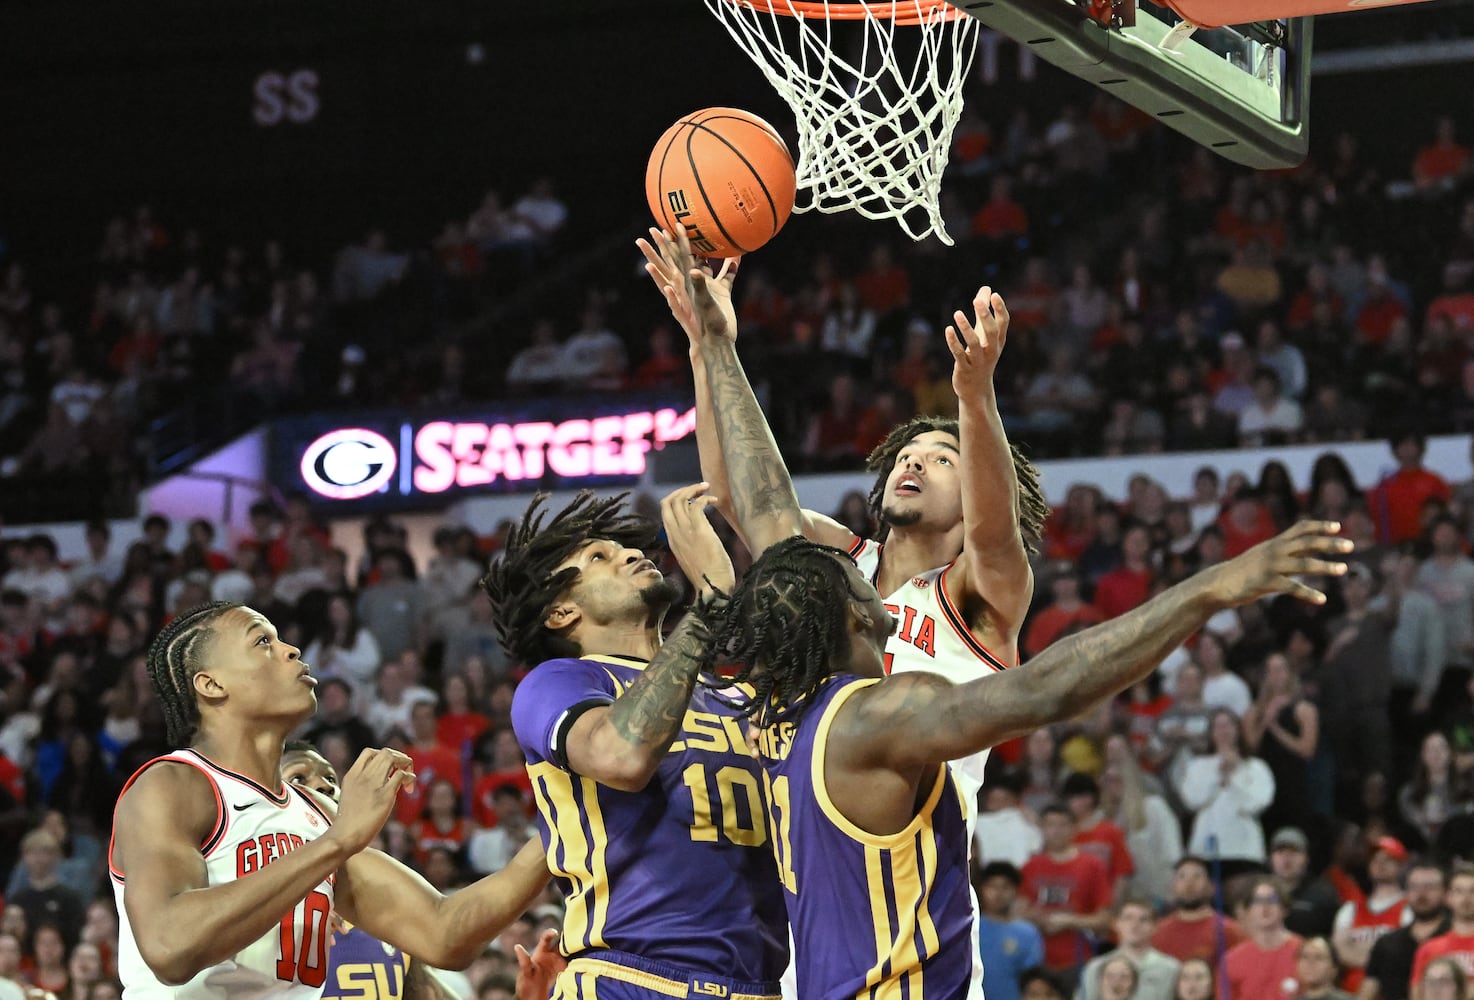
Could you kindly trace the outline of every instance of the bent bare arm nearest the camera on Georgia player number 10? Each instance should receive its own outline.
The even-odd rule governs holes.
[[[139,951],[161,982],[189,982],[282,922],[323,879],[383,826],[408,758],[364,751],[343,776],[339,819],[323,836],[251,875],[211,885],[200,842],[217,824],[215,794],[192,767],[158,764],[118,802],[113,864],[127,878],[124,904]]]

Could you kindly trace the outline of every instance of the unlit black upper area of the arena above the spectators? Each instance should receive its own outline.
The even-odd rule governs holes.
[[[1431,7],[1467,10],[1352,15],[1340,29],[1322,19],[1321,38],[1425,35],[1449,16]],[[256,124],[258,78],[299,69],[318,75],[315,118]],[[1428,133],[1425,117],[1405,109],[1446,108],[1467,71],[1319,77],[1315,142],[1372,121],[1365,155],[1405,176]],[[1052,114],[1061,90],[1089,94],[1048,66],[1032,86],[968,87],[971,106],[996,124],[1020,102]],[[149,202],[167,220],[199,224],[208,245],[290,230],[302,243],[292,249],[315,257],[371,224],[423,245],[488,187],[510,201],[514,178],[535,174],[554,177],[578,206],[575,239],[606,236],[643,221],[646,156],[663,128],[727,103],[790,125],[700,0],[7,4],[0,237],[28,260],[55,252],[65,265],[77,258],[63,249]]]

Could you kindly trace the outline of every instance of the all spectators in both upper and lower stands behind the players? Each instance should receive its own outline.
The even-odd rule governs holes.
[[[1340,519],[1359,553],[1325,606],[1219,615],[1129,695],[995,752],[976,845],[989,1000],[1014,984],[1033,1000],[1335,984],[1399,1000],[1414,976],[1428,1000],[1465,996],[1439,990],[1474,971],[1458,867],[1474,860],[1474,485],[1422,468],[1419,435],[1474,431],[1474,173],[1453,122],[1428,125],[1405,176],[1381,177],[1352,136],[1248,173],[1106,99],[1049,121],[970,115],[945,195],[960,248],[800,220],[744,267],[744,360],[800,469],[856,468],[895,422],[955,409],[937,323],[980,280],[1010,304],[999,403],[1036,457],[1327,442],[1309,482],[1269,462],[1253,482],[1204,469],[1188,497],[1145,476],[1126,497],[1077,484],[1051,516],[1026,656],[1302,513]],[[1153,177],[1150,195],[1123,176]],[[6,490],[130,497],[136,431],[209,386],[252,419],[682,388],[681,335],[632,251],[537,294],[567,217],[538,180],[423,246],[370,232],[312,265],[290,235],[212,246],[140,206],[106,226],[90,301],[3,261]],[[504,317],[491,335],[488,316]],[[1397,471],[1356,482],[1334,442],[1386,434]],[[868,527],[862,497],[837,516]],[[116,552],[99,521],[65,565],[44,531],[0,549],[0,1000],[16,982],[116,996],[111,807],[168,749],[144,649],[209,597],[305,649],[321,683],[301,736],[329,761],[379,743],[414,758],[382,842],[438,888],[532,835],[509,720],[526,665],[476,588],[498,537],[445,525],[417,563],[379,519],[351,565],[301,497],[251,524],[224,538],[195,522],[171,550],[155,516]],[[550,898],[467,990],[504,991],[511,945],[556,922]]]

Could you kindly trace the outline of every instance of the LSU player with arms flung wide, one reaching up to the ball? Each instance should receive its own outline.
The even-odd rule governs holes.
[[[681,251],[688,263],[684,235]],[[970,886],[945,761],[1125,690],[1223,608],[1275,593],[1324,602],[1297,577],[1346,572],[1352,543],[1340,525],[1303,522],[1023,668],[955,686],[924,671],[886,677],[898,622],[843,550],[802,537],[793,482],[708,292],[713,276],[688,267],[685,280],[731,507],[758,555],[706,659],[738,667],[730,683],[753,692],[743,711],[759,727],[797,994],[958,1000],[973,966]],[[989,363],[971,324],[948,336],[958,364]]]

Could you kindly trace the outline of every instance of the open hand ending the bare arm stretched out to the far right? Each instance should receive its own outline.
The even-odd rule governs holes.
[[[1247,605],[1271,594],[1291,594],[1324,605],[1325,594],[1302,577],[1340,577],[1355,546],[1340,537],[1335,521],[1302,521],[1248,552],[1209,569],[1213,593],[1223,603]]]

